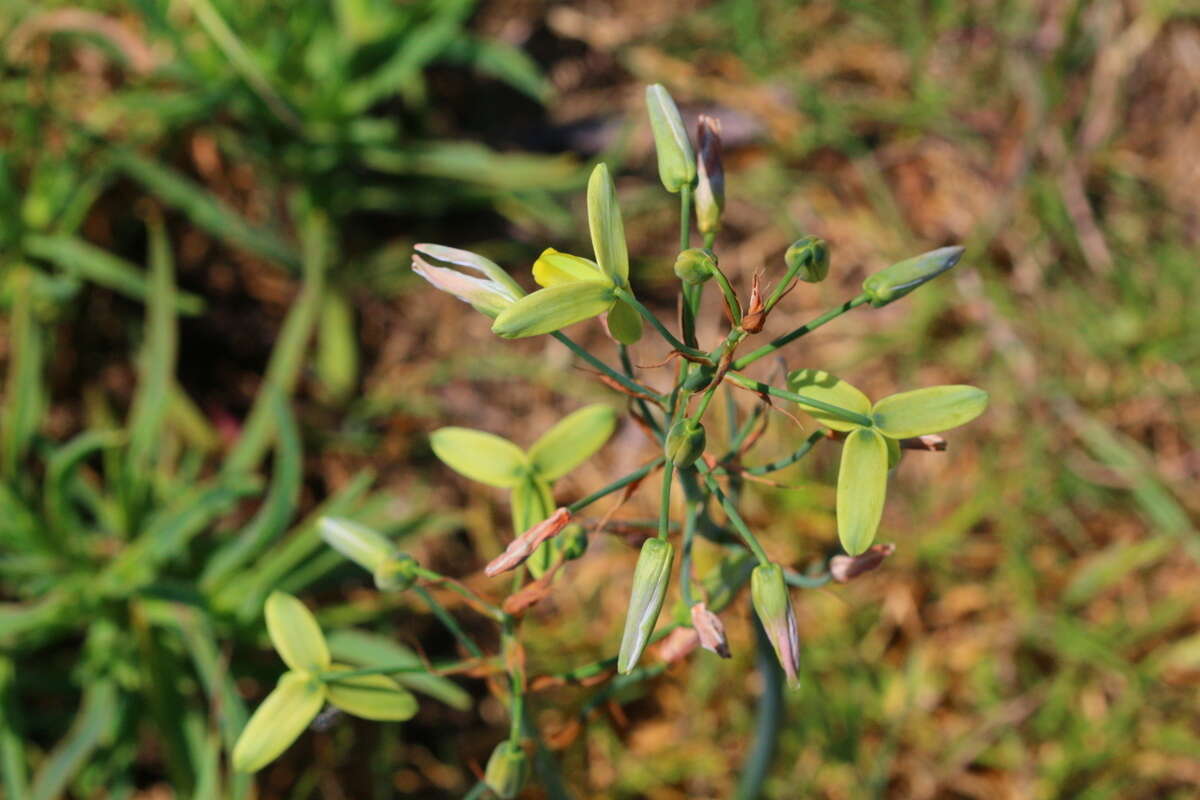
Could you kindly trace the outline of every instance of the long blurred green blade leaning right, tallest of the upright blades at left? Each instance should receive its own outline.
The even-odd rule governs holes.
[[[312,213],[305,221],[304,287],[280,331],[278,342],[266,365],[266,375],[254,405],[246,417],[238,444],[222,468],[226,475],[248,473],[258,467],[270,444],[275,425],[272,397],[290,397],[300,377],[308,341],[312,338],[320,301],[325,294],[325,270],[330,254],[329,224],[324,216]]]

